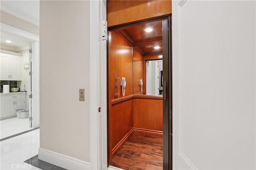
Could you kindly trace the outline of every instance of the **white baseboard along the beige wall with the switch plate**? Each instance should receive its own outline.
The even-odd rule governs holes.
[[[39,148],[38,159],[60,166],[68,170],[90,170],[91,165],[89,162],[66,156],[58,152]]]

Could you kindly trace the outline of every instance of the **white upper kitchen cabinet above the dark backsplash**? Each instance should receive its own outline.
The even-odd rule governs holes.
[[[2,51],[1,51],[2,52]],[[14,55],[15,54],[15,55]],[[21,80],[20,54],[0,53],[0,79],[1,80]]]

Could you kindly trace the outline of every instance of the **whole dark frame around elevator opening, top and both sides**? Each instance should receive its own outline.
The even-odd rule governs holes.
[[[172,16],[164,16],[160,18],[148,19],[129,24],[123,24],[113,27],[108,27],[108,31],[147,23],[151,21],[162,20],[162,39],[163,39],[163,82],[164,96],[163,96],[163,170],[172,170]],[[108,60],[108,47],[107,47]],[[108,61],[107,61],[108,72]],[[108,76],[108,73],[107,73]],[[108,78],[107,78],[107,101],[108,101]],[[108,103],[107,103],[107,121],[108,121]],[[108,122],[107,122],[108,126]],[[108,136],[108,134],[107,134]],[[108,144],[109,150],[109,144]],[[108,152],[109,164],[109,152]]]

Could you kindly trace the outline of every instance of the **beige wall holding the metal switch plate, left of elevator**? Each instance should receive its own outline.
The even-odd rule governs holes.
[[[89,1],[40,1],[40,148],[90,162]],[[79,89],[85,89],[85,102]]]

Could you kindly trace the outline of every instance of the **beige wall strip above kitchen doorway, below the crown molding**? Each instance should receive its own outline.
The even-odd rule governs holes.
[[[35,35],[39,35],[39,27],[37,25],[12,16],[6,12],[0,11],[0,21],[6,25],[22,29]]]

